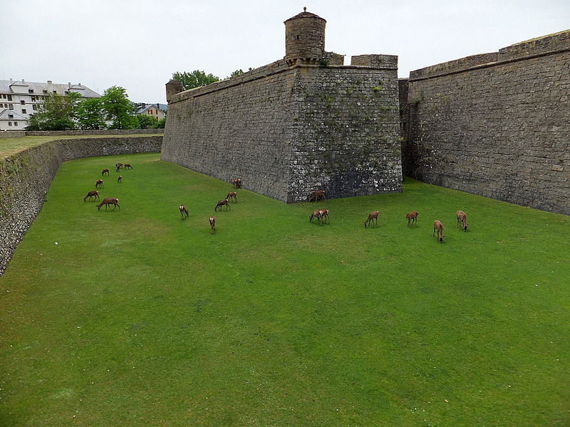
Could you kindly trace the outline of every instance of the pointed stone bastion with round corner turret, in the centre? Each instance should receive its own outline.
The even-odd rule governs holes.
[[[167,84],[161,158],[285,203],[401,191],[398,58],[324,51],[326,21],[285,22],[284,59],[202,88]]]

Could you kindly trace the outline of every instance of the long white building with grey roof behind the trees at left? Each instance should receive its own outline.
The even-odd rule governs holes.
[[[78,83],[26,82],[22,80],[0,80],[0,130],[24,130],[28,117],[38,109],[42,97],[48,93],[66,95],[81,93],[81,97],[100,97],[98,93]]]

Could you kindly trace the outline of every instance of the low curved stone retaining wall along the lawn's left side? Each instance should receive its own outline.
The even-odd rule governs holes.
[[[0,275],[41,211],[51,181],[63,162],[160,152],[161,148],[162,135],[76,138],[46,142],[0,159]]]

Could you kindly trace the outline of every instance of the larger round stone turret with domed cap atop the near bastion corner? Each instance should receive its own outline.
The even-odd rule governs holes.
[[[304,11],[285,23],[285,60],[287,65],[315,64],[325,51],[326,21]]]

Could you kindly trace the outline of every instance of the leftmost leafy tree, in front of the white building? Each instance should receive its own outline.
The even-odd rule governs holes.
[[[30,115],[27,130],[73,130],[76,128],[78,93],[59,95],[48,93],[42,97],[39,110]]]

